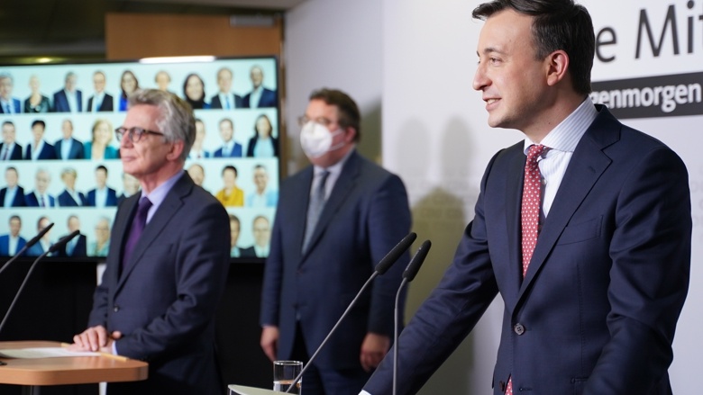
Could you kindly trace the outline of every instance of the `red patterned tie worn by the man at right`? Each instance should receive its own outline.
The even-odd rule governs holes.
[[[523,277],[530,265],[534,246],[537,245],[537,235],[540,226],[540,209],[542,208],[542,174],[537,165],[537,158],[544,152],[543,145],[532,145],[527,151],[525,161],[525,183],[523,184],[523,205],[521,212],[523,232]],[[506,395],[513,395],[513,379],[507,382]]]

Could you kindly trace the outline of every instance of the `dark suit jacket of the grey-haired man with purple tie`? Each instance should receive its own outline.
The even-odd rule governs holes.
[[[230,262],[227,212],[184,174],[121,269],[139,199],[133,195],[117,209],[88,326],[121,331],[118,354],[149,362],[149,378],[110,383],[108,393],[222,394],[214,318]]]

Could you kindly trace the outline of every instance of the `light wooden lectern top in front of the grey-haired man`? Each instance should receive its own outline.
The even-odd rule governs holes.
[[[0,342],[0,350],[31,347],[59,347],[59,342]],[[0,358],[0,383],[23,385],[23,394],[43,385],[89,384],[94,382],[137,382],[146,380],[149,364],[110,356],[69,356],[59,358]]]

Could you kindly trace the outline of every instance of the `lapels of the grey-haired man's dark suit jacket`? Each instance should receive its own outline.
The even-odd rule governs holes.
[[[156,212],[154,212],[151,220],[144,228],[142,238],[140,238],[139,241],[137,241],[137,245],[134,246],[134,252],[132,252],[132,258],[130,259],[131,262],[126,262],[124,264],[118,289],[122,286],[125,279],[129,277],[129,274],[132,273],[134,267],[140,264],[144,251],[146,251],[151,244],[153,244],[169,221],[174,218],[174,214],[176,214],[176,212],[183,206],[183,197],[190,193],[193,185],[193,180],[187,174],[184,174],[180,177],[176,184],[173,185],[169,193],[167,193],[166,199],[161,202],[159,208]],[[131,222],[132,221],[130,221],[130,223]],[[125,229],[123,238],[126,236],[126,232],[128,231],[129,229]],[[122,244],[120,244],[120,246],[122,246]]]

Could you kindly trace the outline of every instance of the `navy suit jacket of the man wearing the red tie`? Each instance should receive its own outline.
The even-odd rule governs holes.
[[[491,159],[452,265],[398,341],[397,393],[418,391],[499,292],[495,395],[509,377],[520,394],[671,394],[671,341],[689,283],[687,170],[662,142],[597,108],[524,280],[524,142]],[[390,393],[391,365],[386,358],[365,390]]]

